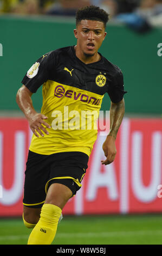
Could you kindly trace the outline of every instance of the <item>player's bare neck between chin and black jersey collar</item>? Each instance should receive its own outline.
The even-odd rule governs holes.
[[[74,46],[76,57],[79,58],[83,63],[90,64],[93,62],[98,62],[101,59],[101,56],[98,52],[96,52],[93,56],[86,56],[83,52],[79,50],[79,48]]]

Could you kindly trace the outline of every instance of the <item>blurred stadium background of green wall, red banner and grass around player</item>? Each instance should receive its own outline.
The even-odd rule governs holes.
[[[22,222],[31,132],[16,104],[27,70],[43,54],[75,45],[75,11],[95,4],[110,14],[100,52],[125,78],[126,114],[108,166],[98,136],[82,189],[63,210],[55,244],[161,244],[160,0],[0,0],[0,244],[26,244]],[[41,88],[33,95],[40,111]],[[101,110],[108,110],[105,95]],[[161,185],[161,186],[160,186]]]

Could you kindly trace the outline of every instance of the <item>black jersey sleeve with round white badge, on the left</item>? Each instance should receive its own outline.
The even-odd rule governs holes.
[[[54,64],[54,57],[51,52],[44,54],[27,71],[22,83],[30,90],[36,93],[37,89],[50,77],[51,66]]]

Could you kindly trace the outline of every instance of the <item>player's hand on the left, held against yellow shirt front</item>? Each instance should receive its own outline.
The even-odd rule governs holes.
[[[49,135],[49,132],[46,130],[46,127],[49,129],[51,127],[48,123],[46,123],[46,121],[44,121],[46,119],[48,119],[48,117],[46,117],[46,115],[43,115],[41,113],[33,113],[33,114],[30,114],[30,117],[28,117],[30,129],[31,131],[33,131],[36,137],[39,137],[39,134],[42,137],[44,137],[43,132]],[[44,127],[43,125],[46,127]]]

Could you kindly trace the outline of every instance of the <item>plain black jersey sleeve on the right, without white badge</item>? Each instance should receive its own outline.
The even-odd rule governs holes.
[[[118,103],[123,99],[125,93],[124,91],[124,77],[121,70],[112,77],[110,86],[108,87],[108,95],[113,103]]]

